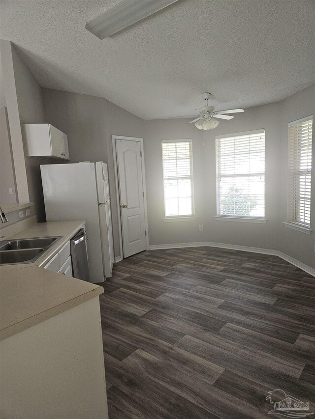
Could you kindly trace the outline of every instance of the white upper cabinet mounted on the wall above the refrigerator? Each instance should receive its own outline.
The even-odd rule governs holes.
[[[66,134],[50,124],[23,125],[27,156],[69,160]]]

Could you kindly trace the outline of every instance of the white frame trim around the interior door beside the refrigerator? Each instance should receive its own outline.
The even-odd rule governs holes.
[[[140,142],[142,187],[143,187],[143,192],[144,192],[144,197],[143,197],[144,223],[145,223],[145,229],[147,231],[146,250],[149,250],[149,229],[148,229],[148,215],[147,215],[147,190],[146,190],[146,173],[145,173],[145,168],[144,168],[143,138],[140,138],[140,137],[125,137],[125,136],[121,136],[121,135],[112,135],[113,160],[114,160],[114,172],[115,172],[115,188],[116,188],[116,203],[117,203],[118,227],[119,227],[118,238],[119,238],[120,256],[121,256],[121,260],[122,260],[124,258],[124,251],[123,251],[123,232],[122,232],[122,219],[121,219],[121,211],[120,211],[120,196],[119,196],[119,184],[118,184],[116,140],[127,140],[127,141],[139,141]]]

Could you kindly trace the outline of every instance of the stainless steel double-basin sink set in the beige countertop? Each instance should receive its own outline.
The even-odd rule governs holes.
[[[61,237],[2,240],[0,242],[0,265],[36,262]]]

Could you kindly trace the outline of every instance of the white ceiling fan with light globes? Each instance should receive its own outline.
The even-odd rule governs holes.
[[[232,119],[234,116],[226,115],[226,113],[237,113],[237,112],[244,112],[244,109],[229,109],[227,111],[215,111],[214,106],[208,105],[208,100],[212,97],[212,94],[209,92],[202,93],[202,97],[206,101],[207,105],[203,106],[202,108],[196,109],[199,112],[199,115],[196,119],[193,119],[189,122],[192,124],[194,122],[195,127],[199,130],[210,130],[212,128],[216,128],[220,121],[219,119]]]

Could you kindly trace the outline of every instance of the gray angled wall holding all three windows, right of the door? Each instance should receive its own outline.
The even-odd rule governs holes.
[[[287,123],[314,110],[314,86],[274,104],[247,109],[215,130],[199,131],[189,119],[144,121],[150,245],[210,241],[280,250],[315,267],[311,235],[286,228]],[[265,129],[266,224],[216,221],[215,136]],[[161,140],[192,138],[197,221],[164,223]],[[315,145],[315,141],[313,142]],[[315,159],[313,159],[314,162]],[[313,182],[313,197],[314,197]],[[314,201],[314,199],[313,199]],[[314,206],[314,205],[313,205]],[[312,228],[315,227],[314,208]],[[204,231],[199,231],[203,224]]]

